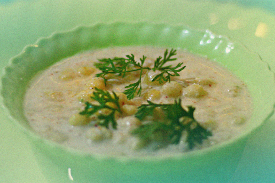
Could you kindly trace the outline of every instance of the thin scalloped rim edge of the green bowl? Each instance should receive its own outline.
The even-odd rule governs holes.
[[[32,47],[36,47],[36,45],[39,45],[41,43],[41,41],[45,41],[45,40],[49,40],[49,39],[52,39],[53,37],[55,37],[56,35],[59,35],[59,34],[65,34],[65,33],[72,33],[74,31],[77,31],[78,29],[82,29],[82,28],[89,28],[89,27],[95,27],[95,26],[98,26],[98,25],[106,25],[106,26],[113,26],[113,25],[137,25],[137,24],[141,24],[141,25],[150,25],[150,26],[154,26],[154,25],[159,25],[159,26],[170,26],[170,27],[184,27],[184,30],[192,30],[192,31],[199,31],[199,32],[209,32],[208,29],[193,29],[193,28],[190,28],[186,25],[172,25],[172,24],[168,24],[168,23],[149,23],[149,22],[136,22],[136,23],[127,23],[127,22],[114,22],[114,23],[96,23],[96,24],[93,24],[91,26],[82,26],[82,25],[79,25],[79,26],[76,26],[72,29],[69,29],[69,30],[65,30],[65,31],[56,31],[54,33],[52,33],[51,35],[47,36],[47,37],[40,37],[34,44],[30,44],[30,45],[26,45],[23,50],[16,56],[12,57],[10,60],[9,60],[9,63],[7,64],[5,68],[11,66],[13,64],[13,61],[20,57],[22,54],[24,54],[26,51],[28,51],[30,48]],[[227,41],[231,41],[227,36],[224,36],[224,35],[217,35],[217,34],[213,34],[213,35],[216,35],[220,38],[223,38]],[[261,64],[264,65],[264,67],[266,68],[266,72],[269,73],[270,76],[273,77],[273,84],[275,84],[275,79],[274,79],[274,73],[270,70],[270,67],[268,65],[268,63],[262,61],[260,55],[258,55],[257,53],[254,53],[252,51],[250,51],[249,49],[247,49],[242,43],[240,43],[239,41],[233,41],[234,45],[239,45],[242,49],[245,49],[247,53],[249,53],[250,55],[254,55],[254,57],[258,58],[258,60],[260,61]],[[109,46],[110,47],[110,46]],[[89,48],[87,49],[88,50],[91,50],[92,48]],[[31,50],[31,49],[30,49]],[[83,52],[85,50],[81,50],[81,51],[78,51],[78,53],[80,52]],[[190,53],[194,53],[194,54],[197,54],[196,52],[193,52],[193,51],[190,51],[188,50]],[[77,53],[74,53],[73,55],[75,55]],[[197,54],[197,55],[200,55],[200,54]],[[72,55],[70,55],[72,56]],[[69,56],[69,57],[70,57]],[[1,74],[1,78],[6,75],[6,71],[3,69],[3,72]],[[184,158],[188,158],[188,157],[195,157],[195,156],[200,156],[200,155],[203,155],[203,154],[206,154],[206,153],[211,153],[212,151],[215,151],[215,150],[219,150],[223,147],[226,147],[226,146],[229,146],[230,144],[233,144],[234,142],[237,142],[238,140],[241,140],[241,139],[244,139],[246,138],[249,134],[251,134],[253,131],[255,131],[256,129],[258,129],[270,116],[272,116],[273,112],[274,112],[274,106],[275,106],[275,99],[274,97],[272,98],[272,101],[273,101],[273,105],[272,106],[269,106],[269,111],[267,112],[267,114],[265,115],[264,117],[264,120],[262,120],[260,123],[258,123],[258,125],[252,129],[250,129],[249,131],[245,131],[245,133],[242,133],[241,135],[237,136],[237,138],[231,138],[230,140],[226,140],[225,142],[222,142],[222,143],[219,143],[219,144],[216,144],[216,145],[213,145],[213,146],[210,146],[210,147],[206,147],[206,148],[203,148],[203,149],[199,149],[199,150],[194,150],[194,151],[190,151],[190,152],[184,152],[182,154],[173,154],[171,156],[167,156],[167,155],[158,155],[158,156],[141,156],[141,157],[135,157],[135,156],[119,156],[119,155],[105,155],[105,154],[91,154],[89,152],[84,152],[84,151],[81,151],[81,150],[76,150],[76,149],[73,149],[73,148],[70,148],[70,147],[67,147],[67,146],[64,146],[64,145],[61,145],[61,144],[58,144],[58,143],[55,143],[55,142],[52,142],[51,140],[48,140],[46,138],[43,138],[42,136],[38,135],[37,133],[35,133],[33,130],[29,130],[27,128],[25,128],[22,124],[20,124],[18,122],[18,120],[16,120],[13,116],[11,116],[10,114],[10,111],[8,109],[7,106],[5,106],[4,104],[4,98],[2,96],[2,82],[0,82],[0,91],[1,91],[1,95],[0,95],[0,104],[1,104],[1,108],[3,110],[5,110],[5,113],[7,114],[7,116],[9,117],[9,119],[11,121],[13,121],[13,123],[15,123],[22,132],[24,132],[27,136],[29,136],[29,138],[34,138],[35,140],[39,140],[40,142],[43,142],[44,144],[47,144],[48,146],[50,147],[53,147],[53,148],[61,148],[63,150],[65,150],[66,152],[69,152],[70,154],[74,155],[74,156],[89,156],[89,157],[93,157],[93,158],[96,158],[96,159],[110,159],[110,158],[114,158],[116,159],[117,161],[129,161],[129,160],[139,160],[139,161],[155,161],[155,160],[165,160],[165,159],[177,159],[179,160],[180,158],[184,159]]]

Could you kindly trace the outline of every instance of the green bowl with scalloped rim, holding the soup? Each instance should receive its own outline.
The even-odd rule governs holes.
[[[139,158],[84,153],[44,139],[32,130],[22,104],[26,86],[38,71],[81,51],[130,45],[186,49],[227,67],[247,84],[253,99],[254,111],[246,131],[202,150],[177,156]],[[58,167],[59,182],[72,179],[74,182],[219,181],[225,178],[223,170],[235,170],[247,137],[271,116],[275,103],[274,74],[259,55],[227,37],[182,25],[111,23],[54,33],[26,46],[10,60],[3,73],[0,99],[4,109],[11,121],[29,137],[49,180],[53,177],[48,175],[51,163]]]

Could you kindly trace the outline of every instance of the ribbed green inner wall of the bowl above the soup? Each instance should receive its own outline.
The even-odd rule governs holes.
[[[232,143],[260,126],[273,112],[274,74],[256,53],[248,51],[238,42],[215,35],[211,31],[193,30],[186,26],[150,23],[97,24],[92,27],[77,27],[73,30],[54,33],[28,45],[10,60],[1,78],[1,100],[13,121],[23,131],[32,132],[23,114],[23,98],[30,79],[39,71],[62,58],[78,52],[110,46],[152,45],[186,49],[197,55],[207,56],[242,79],[250,90],[254,111],[247,130],[218,146]],[[264,84],[263,84],[264,83]],[[196,154],[196,152],[191,152]]]

